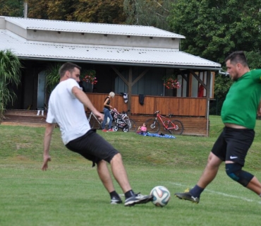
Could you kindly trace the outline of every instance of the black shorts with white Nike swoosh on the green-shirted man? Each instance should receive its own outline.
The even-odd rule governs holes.
[[[222,161],[232,161],[240,165],[245,164],[245,156],[253,143],[255,131],[253,129],[233,129],[224,127],[212,148],[212,153]]]

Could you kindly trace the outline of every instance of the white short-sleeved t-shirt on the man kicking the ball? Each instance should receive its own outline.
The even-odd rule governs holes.
[[[46,121],[59,124],[64,145],[90,130],[84,106],[72,93],[74,86],[80,88],[73,78],[62,81],[49,98]]]

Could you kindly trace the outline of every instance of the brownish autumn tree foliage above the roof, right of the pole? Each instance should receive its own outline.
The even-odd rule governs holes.
[[[124,23],[122,0],[28,0],[28,17],[89,23]]]

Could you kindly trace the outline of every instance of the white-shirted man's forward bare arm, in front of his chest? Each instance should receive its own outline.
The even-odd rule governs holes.
[[[95,114],[95,116],[98,117],[99,121],[102,121],[104,119],[104,115],[97,111],[97,109],[92,105],[92,102],[90,102],[89,97],[87,97],[86,93],[83,92],[83,90],[80,90],[77,86],[74,86],[72,88],[73,95],[81,102],[85,107],[90,109],[90,111]]]

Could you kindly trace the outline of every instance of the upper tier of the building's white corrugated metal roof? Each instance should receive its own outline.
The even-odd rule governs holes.
[[[85,32],[110,35],[138,35],[146,37],[185,38],[173,32],[150,26],[116,25],[106,23],[82,23],[61,20],[40,20],[31,18],[5,17],[6,21],[31,30],[54,30],[64,32]]]

